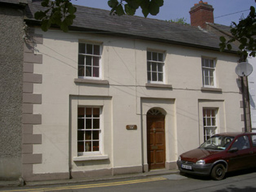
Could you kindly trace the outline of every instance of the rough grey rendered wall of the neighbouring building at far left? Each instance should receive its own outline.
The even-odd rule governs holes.
[[[0,180],[22,172],[22,9],[0,5]]]

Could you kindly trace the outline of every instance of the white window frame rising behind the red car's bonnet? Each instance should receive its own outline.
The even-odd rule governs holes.
[[[204,111],[210,111],[210,116],[204,115],[207,114]],[[218,133],[217,114],[218,108],[203,108],[204,141]],[[210,134],[207,130],[210,130]]]

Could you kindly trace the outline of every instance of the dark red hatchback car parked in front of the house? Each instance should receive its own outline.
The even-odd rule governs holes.
[[[221,180],[225,173],[256,167],[256,133],[219,133],[199,148],[178,157],[181,173],[211,176]]]

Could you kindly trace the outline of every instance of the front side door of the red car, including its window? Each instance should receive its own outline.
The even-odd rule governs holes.
[[[253,158],[248,136],[238,137],[228,151],[228,171],[251,167]]]

